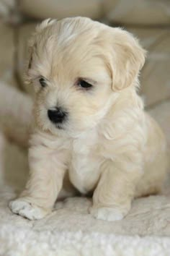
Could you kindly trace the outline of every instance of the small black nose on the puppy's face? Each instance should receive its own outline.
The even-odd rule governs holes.
[[[67,112],[62,108],[48,109],[48,118],[54,124],[62,123],[66,119]]]

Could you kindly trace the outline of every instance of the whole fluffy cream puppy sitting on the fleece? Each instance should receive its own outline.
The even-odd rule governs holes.
[[[90,213],[115,221],[134,197],[158,192],[166,141],[136,93],[145,51],[133,35],[85,17],[45,20],[30,43],[27,80],[35,88],[30,179],[13,213],[42,218],[68,174]]]

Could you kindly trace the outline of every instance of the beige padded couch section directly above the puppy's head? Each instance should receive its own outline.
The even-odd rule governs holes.
[[[22,0],[20,7],[30,17],[61,19],[71,16],[101,17],[102,8],[99,0]]]

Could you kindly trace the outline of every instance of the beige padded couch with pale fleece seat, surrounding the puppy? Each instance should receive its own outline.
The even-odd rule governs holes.
[[[89,215],[91,199],[56,202],[40,221],[13,215],[9,200],[28,176],[32,88],[24,84],[27,40],[41,20],[87,16],[125,27],[148,51],[139,93],[170,147],[170,2],[166,0],[1,0],[0,2],[0,255],[170,255],[170,182],[162,194],[134,200],[112,223]],[[170,154],[169,154],[170,155]]]

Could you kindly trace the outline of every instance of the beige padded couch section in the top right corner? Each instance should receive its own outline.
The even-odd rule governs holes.
[[[170,1],[167,0],[106,0],[104,7],[110,22],[126,25],[170,24]]]

